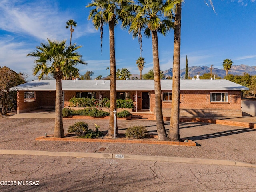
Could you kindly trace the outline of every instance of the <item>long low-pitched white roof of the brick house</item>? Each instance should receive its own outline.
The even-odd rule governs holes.
[[[34,80],[11,90],[55,90],[55,80]],[[62,80],[62,90],[110,90],[110,80]],[[116,90],[154,90],[154,80],[116,80]],[[161,90],[172,90],[172,80],[161,80]],[[234,82],[221,80],[180,80],[180,90],[249,90]]]

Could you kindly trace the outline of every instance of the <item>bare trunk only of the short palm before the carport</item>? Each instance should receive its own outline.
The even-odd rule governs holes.
[[[62,76],[62,72],[59,76]],[[63,119],[62,119],[62,84],[61,77],[56,80],[56,99],[55,99],[55,127],[54,137],[64,137]]]

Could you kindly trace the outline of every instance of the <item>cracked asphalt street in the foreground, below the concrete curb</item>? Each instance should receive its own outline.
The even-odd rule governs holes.
[[[16,182],[1,192],[256,191],[256,168],[248,167],[1,155],[0,170],[1,181]]]

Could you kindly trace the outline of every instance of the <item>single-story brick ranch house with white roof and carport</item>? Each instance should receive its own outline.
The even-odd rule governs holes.
[[[134,112],[154,113],[154,80],[116,80],[117,99],[134,101]],[[17,113],[55,107],[55,80],[34,80],[17,90]],[[170,116],[172,80],[161,80],[164,116]],[[242,116],[242,91],[248,88],[228,80],[180,80],[180,116]],[[102,100],[110,97],[110,80],[62,80],[63,107],[73,97]]]

